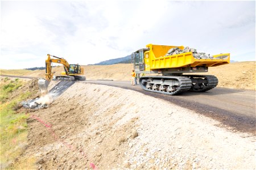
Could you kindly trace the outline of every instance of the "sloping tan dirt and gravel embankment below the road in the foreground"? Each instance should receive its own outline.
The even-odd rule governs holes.
[[[38,169],[255,169],[254,138],[130,90],[75,83],[30,115]]]

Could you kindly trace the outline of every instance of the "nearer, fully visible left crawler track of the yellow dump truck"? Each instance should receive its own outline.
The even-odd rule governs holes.
[[[176,95],[191,89],[187,76],[142,76],[139,84],[143,90],[164,95]]]

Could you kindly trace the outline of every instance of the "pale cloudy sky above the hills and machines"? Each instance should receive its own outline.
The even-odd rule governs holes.
[[[255,61],[255,1],[1,1],[1,69],[88,65],[146,44]]]

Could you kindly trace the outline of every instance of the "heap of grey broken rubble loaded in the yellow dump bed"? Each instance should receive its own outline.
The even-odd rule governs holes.
[[[212,59],[213,58],[212,56],[210,56],[210,54],[199,53],[196,51],[195,48],[189,48],[188,46],[186,48],[184,48],[183,50],[181,50],[177,47],[171,48],[170,50],[168,50],[168,52],[166,53],[165,56],[172,56],[172,55],[188,53],[188,52],[192,52],[193,57],[195,57],[197,59]]]

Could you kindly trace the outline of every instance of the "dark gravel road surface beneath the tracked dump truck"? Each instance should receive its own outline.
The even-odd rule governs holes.
[[[228,127],[233,131],[256,134],[255,91],[217,87],[207,92],[186,92],[167,96],[144,91],[139,85],[131,86],[127,81],[86,80],[82,83],[104,84],[138,91],[214,118],[222,122],[220,126]]]

